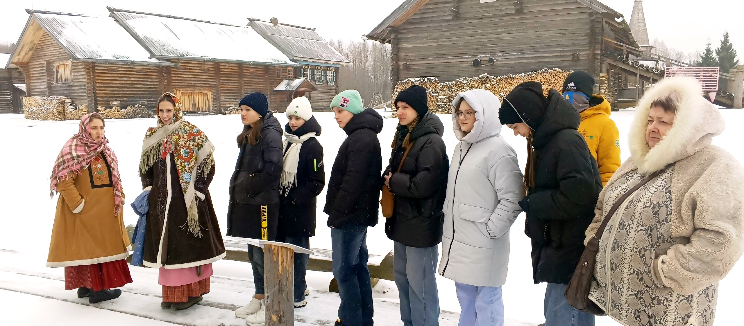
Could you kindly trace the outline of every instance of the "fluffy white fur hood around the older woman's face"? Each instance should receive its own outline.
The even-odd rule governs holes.
[[[646,141],[651,103],[671,97],[677,112],[674,125],[653,149]],[[655,84],[638,102],[629,134],[630,154],[638,172],[650,175],[695,154],[723,132],[725,122],[718,108],[702,97],[702,86],[691,77],[676,76]]]

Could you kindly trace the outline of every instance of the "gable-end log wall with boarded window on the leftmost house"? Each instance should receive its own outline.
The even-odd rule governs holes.
[[[28,96],[69,97],[76,105],[88,103],[83,62],[70,62],[71,82],[57,82],[55,79],[55,65],[70,59],[65,49],[44,31],[28,65],[22,67]]]

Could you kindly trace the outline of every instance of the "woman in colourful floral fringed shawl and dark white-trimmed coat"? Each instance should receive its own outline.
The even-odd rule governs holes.
[[[158,99],[158,125],[147,129],[140,175],[150,190],[143,264],[159,268],[161,307],[183,310],[209,293],[212,264],[225,257],[209,195],[214,146],[195,125],[183,120],[171,93]]]

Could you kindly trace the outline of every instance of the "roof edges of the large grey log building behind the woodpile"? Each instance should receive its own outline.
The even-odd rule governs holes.
[[[618,13],[618,11],[612,9],[611,7],[607,7],[605,4],[601,3],[597,0],[576,0],[579,1],[581,4],[584,4],[586,7],[590,7],[592,10],[596,10],[598,13],[606,13],[614,18],[620,18],[623,15]],[[403,1],[403,4],[400,4],[393,12],[388,15],[387,18],[382,20],[382,22],[377,25],[377,27],[374,27],[371,32],[367,33],[366,37],[367,39],[372,39],[374,41],[382,42],[382,43],[389,43],[391,38],[390,33],[390,27],[399,27],[400,25],[403,25],[403,23],[411,18],[411,16],[414,15],[418,10],[423,7],[424,4],[429,2],[429,0],[405,0]]]

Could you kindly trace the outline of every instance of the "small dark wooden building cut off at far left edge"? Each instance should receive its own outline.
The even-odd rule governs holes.
[[[19,113],[26,95],[25,79],[21,70],[7,63],[8,60],[10,53],[0,53],[0,113]]]

